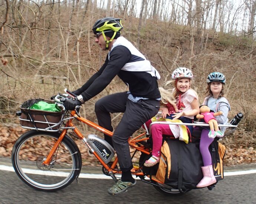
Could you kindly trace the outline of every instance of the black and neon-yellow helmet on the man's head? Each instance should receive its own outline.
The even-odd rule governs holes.
[[[121,24],[121,19],[106,17],[106,18],[98,19],[94,23],[92,27],[92,31],[96,36],[99,36],[100,34],[102,34],[106,42],[106,50],[107,50],[108,44],[112,42],[113,39],[117,39],[120,36],[121,30],[123,28],[124,27]],[[107,40],[106,36],[110,37],[111,39]]]

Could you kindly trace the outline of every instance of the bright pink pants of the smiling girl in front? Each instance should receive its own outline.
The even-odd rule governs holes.
[[[151,122],[151,119],[145,122],[148,129]],[[153,139],[152,155],[155,157],[160,157],[163,135],[173,136],[173,133],[171,132],[168,124],[153,124],[151,125],[151,135]]]

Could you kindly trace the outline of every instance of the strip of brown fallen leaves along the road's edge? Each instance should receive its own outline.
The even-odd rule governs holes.
[[[20,135],[22,135],[24,132],[26,132],[27,129],[21,128],[19,125],[1,125],[0,124],[0,156],[2,157],[10,157],[12,154],[12,148],[16,140],[19,138]],[[100,166],[99,162],[96,160],[96,158],[88,153],[88,148],[83,144],[83,142],[80,139],[73,138],[78,145],[81,154],[82,154],[82,161],[83,165],[92,165],[92,166]],[[25,157],[29,157],[30,160],[35,161],[36,158],[34,157],[35,151],[38,151],[36,145],[45,146],[48,147],[50,141],[48,142],[40,142],[39,144],[33,142],[33,140],[30,141],[30,147],[27,149],[22,149]],[[224,165],[230,166],[235,164],[245,164],[245,163],[256,163],[256,150],[253,147],[245,148],[243,146],[240,147],[234,147],[230,145],[229,147],[228,142],[226,143],[226,154],[224,157]],[[134,149],[131,149],[131,154],[134,152]],[[38,153],[38,152],[37,152]],[[135,159],[137,160],[140,158],[140,154],[135,154]]]

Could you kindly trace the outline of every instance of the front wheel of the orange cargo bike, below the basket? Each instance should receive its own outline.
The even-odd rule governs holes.
[[[81,170],[81,153],[71,138],[65,136],[49,165],[43,165],[59,138],[59,133],[28,131],[14,144],[12,164],[27,185],[41,191],[56,191],[68,186]]]

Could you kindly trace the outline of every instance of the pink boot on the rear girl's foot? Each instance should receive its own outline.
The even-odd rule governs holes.
[[[213,166],[209,165],[206,167],[201,167],[203,171],[203,178],[202,180],[197,184],[197,188],[203,188],[207,187],[211,184],[216,183],[216,178],[213,175]]]

